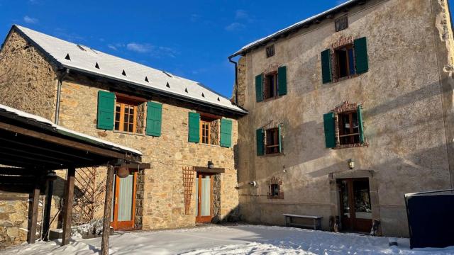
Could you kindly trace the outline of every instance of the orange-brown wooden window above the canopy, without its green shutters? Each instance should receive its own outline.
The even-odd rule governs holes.
[[[115,101],[115,109],[114,109],[114,131],[116,132],[127,132],[131,134],[137,134],[137,111],[138,105],[140,102],[131,100],[130,98],[124,98],[122,96],[117,96]],[[118,106],[120,107],[120,111],[117,111]],[[128,125],[133,124],[132,130],[125,130],[125,109],[133,108],[133,123],[128,123]],[[119,113],[119,119],[117,118],[117,113]],[[116,124],[118,123],[118,128]]]

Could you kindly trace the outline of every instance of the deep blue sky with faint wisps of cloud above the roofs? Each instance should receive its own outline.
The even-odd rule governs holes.
[[[200,81],[230,97],[229,55],[343,1],[0,0],[0,40],[18,24]]]

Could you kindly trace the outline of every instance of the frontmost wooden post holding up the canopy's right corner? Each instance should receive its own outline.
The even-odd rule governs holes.
[[[107,166],[106,199],[104,200],[104,220],[102,224],[101,255],[109,254],[109,234],[111,232],[112,187],[114,186],[114,166]]]

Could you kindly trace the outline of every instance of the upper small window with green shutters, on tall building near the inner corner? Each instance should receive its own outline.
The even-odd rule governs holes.
[[[255,99],[260,102],[287,94],[287,67],[275,67],[255,77]]]

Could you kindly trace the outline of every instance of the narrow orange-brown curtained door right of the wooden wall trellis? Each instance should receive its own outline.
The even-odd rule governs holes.
[[[213,217],[213,176],[197,173],[196,176],[196,222],[211,222]]]

